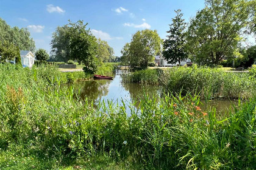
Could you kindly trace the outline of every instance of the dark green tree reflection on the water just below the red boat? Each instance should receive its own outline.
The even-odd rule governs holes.
[[[82,98],[82,100],[88,98],[88,101],[93,101],[93,103],[96,103],[98,98],[108,94],[109,84],[109,80],[81,81],[74,84],[74,88],[76,94],[79,93],[80,89],[79,96]]]

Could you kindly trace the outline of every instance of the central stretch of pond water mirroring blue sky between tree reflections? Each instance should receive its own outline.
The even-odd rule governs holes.
[[[76,94],[88,101],[93,101],[94,105],[97,105],[100,101],[107,100],[113,101],[113,103],[121,104],[122,101],[129,105],[135,103],[138,106],[140,98],[148,94],[149,96],[160,96],[160,89],[158,86],[143,86],[138,83],[122,83],[122,75],[115,75],[113,80],[90,80],[79,81],[74,84],[74,90]],[[126,108],[127,112],[129,108]]]

